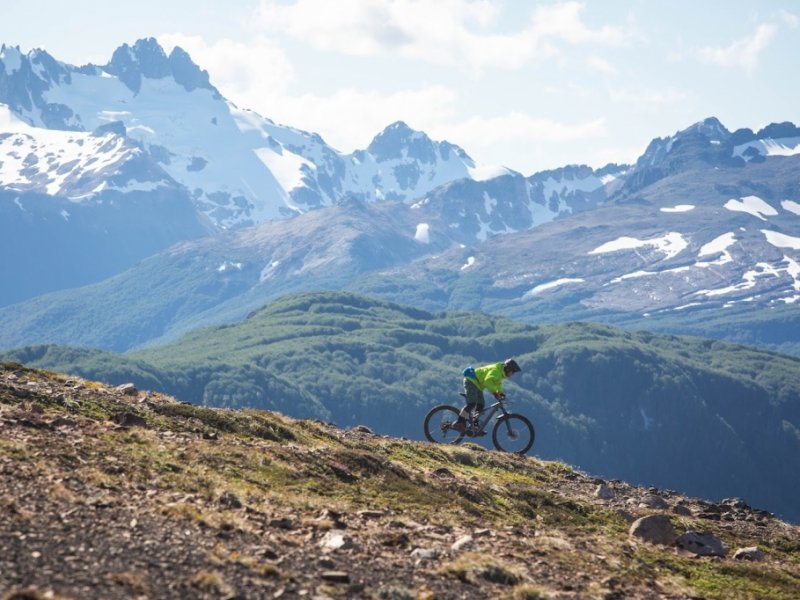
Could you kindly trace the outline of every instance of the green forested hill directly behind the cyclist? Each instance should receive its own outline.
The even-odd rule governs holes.
[[[460,404],[465,366],[514,356],[523,371],[507,387],[513,409],[536,426],[536,455],[704,497],[742,496],[800,520],[800,360],[743,346],[330,293],[284,298],[147,351],[5,356],[195,404],[412,439],[432,406]]]

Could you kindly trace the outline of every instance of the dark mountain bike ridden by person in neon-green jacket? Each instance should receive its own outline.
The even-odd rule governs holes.
[[[462,394],[463,396],[463,394]],[[507,399],[498,400],[483,410],[481,417],[475,421],[470,415],[467,426],[463,431],[453,426],[458,420],[461,409],[449,404],[440,404],[425,415],[425,437],[435,444],[458,444],[465,437],[477,438],[486,435],[486,425],[499,412],[497,421],[492,429],[492,443],[501,452],[514,452],[525,454],[533,446],[536,431],[533,423],[524,416],[510,413],[506,410]]]

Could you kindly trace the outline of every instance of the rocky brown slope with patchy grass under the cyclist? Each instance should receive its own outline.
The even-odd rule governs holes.
[[[0,368],[0,598],[797,598],[800,529],[532,457]]]

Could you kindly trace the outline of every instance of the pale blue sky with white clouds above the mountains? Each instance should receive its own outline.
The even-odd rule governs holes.
[[[800,124],[796,0],[26,0],[0,42],[75,65],[156,37],[340,151],[403,120],[525,175],[632,162],[708,116]]]

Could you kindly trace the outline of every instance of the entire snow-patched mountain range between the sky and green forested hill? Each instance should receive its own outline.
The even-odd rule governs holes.
[[[792,123],[731,132],[711,117],[653,140],[632,166],[526,177],[402,122],[338,152],[236,107],[153,39],[83,67],[3,46],[0,251],[15,259],[0,305],[184,243],[113,282],[0,309],[0,345],[85,334],[128,347],[325,282],[434,309],[783,347],[800,329],[798,182]],[[121,321],[101,340],[82,320],[112,296]]]

